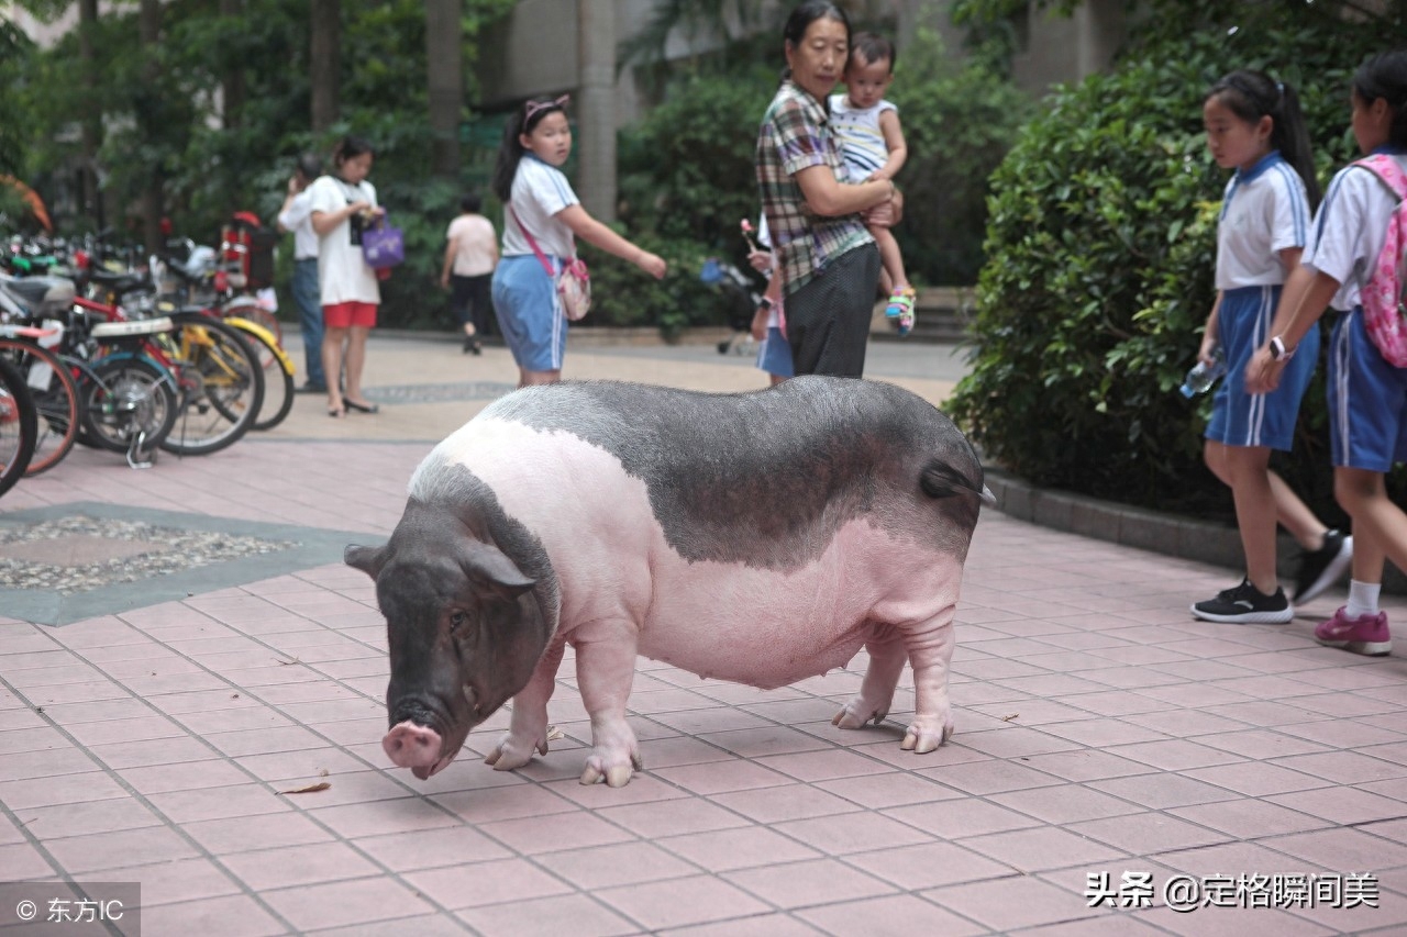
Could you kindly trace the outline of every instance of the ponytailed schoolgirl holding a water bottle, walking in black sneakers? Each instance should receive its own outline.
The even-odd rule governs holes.
[[[1318,200],[1309,134],[1294,89],[1259,72],[1233,72],[1203,103],[1207,148],[1227,183],[1217,222],[1217,301],[1199,359],[1221,353],[1227,377],[1217,388],[1206,431],[1207,467],[1231,487],[1245,550],[1245,578],[1192,613],[1209,622],[1285,623],[1294,616],[1275,573],[1276,522],[1306,549],[1296,601],[1309,601],[1348,567],[1352,542],[1327,530],[1285,480],[1271,471],[1271,452],[1289,452],[1300,398],[1314,374],[1318,329],[1280,388],[1248,391],[1242,373],[1269,338],[1287,274],[1299,264]]]

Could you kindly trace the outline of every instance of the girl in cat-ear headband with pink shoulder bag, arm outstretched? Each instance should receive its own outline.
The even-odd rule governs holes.
[[[573,235],[629,260],[657,280],[664,276],[664,260],[587,214],[561,173],[571,155],[566,104],[567,96],[539,97],[518,108],[504,127],[494,167],[494,193],[504,203],[504,249],[494,269],[494,311],[518,363],[519,387],[561,380],[567,317],[557,298],[556,277],[563,262],[577,253]],[[552,276],[543,262],[552,266]]]

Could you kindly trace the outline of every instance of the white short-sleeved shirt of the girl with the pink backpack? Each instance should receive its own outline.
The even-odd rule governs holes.
[[[1390,156],[1407,172],[1407,153]],[[1359,287],[1377,263],[1394,208],[1397,197],[1362,166],[1345,166],[1328,184],[1300,263],[1339,281],[1330,301],[1339,312],[1359,305]]]

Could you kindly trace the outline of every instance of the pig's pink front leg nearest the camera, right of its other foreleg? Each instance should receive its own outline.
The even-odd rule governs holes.
[[[591,716],[591,756],[581,784],[605,778],[623,786],[643,767],[635,732],[625,720],[635,680],[636,627],[629,620],[594,622],[573,632],[577,649],[577,685]]]

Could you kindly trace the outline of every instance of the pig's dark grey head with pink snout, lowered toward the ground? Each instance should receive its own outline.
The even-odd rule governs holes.
[[[463,518],[414,498],[384,547],[349,546],[386,615],[391,760],[428,778],[532,677],[552,636],[535,585]]]

